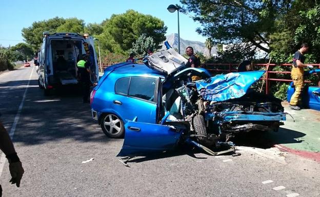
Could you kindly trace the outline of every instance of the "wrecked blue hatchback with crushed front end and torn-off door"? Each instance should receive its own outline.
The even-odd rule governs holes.
[[[146,156],[185,143],[217,155],[234,150],[230,139],[236,134],[277,131],[286,120],[281,100],[249,88],[263,71],[211,77],[186,62],[169,49],[149,56],[146,65],[105,70],[91,93],[92,116],[109,137],[125,136],[118,156]],[[191,81],[194,75],[202,79]],[[212,151],[223,145],[231,148]]]

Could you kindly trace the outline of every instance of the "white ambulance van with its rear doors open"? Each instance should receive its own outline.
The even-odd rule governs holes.
[[[99,79],[94,39],[88,34],[43,33],[43,43],[38,57],[38,84],[45,95],[63,85],[77,84],[77,61],[86,54],[84,42],[89,44],[91,81]]]

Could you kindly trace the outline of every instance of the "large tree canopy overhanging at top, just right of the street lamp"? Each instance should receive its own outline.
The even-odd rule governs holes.
[[[290,0],[181,0],[184,12],[193,12],[193,19],[202,24],[197,32],[214,42],[250,42],[270,52],[268,36],[274,31],[278,13],[285,12]],[[267,47],[266,47],[267,45]]]

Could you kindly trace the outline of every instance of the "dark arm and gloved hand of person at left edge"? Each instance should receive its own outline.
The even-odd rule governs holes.
[[[0,114],[1,116],[1,114]],[[17,153],[14,149],[11,138],[0,120],[0,149],[6,155],[9,162],[9,171],[11,174],[11,184],[16,184],[20,187],[20,182],[24,174],[24,169],[22,167],[21,161],[19,160]],[[0,185],[0,196],[2,196],[2,187]]]

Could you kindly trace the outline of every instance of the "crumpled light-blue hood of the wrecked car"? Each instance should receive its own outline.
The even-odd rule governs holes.
[[[225,101],[244,96],[249,87],[259,80],[265,71],[251,71],[216,75],[196,81],[198,93],[210,101]]]

